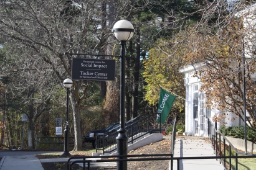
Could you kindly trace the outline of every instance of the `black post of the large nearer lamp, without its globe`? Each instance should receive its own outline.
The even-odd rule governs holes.
[[[118,130],[118,136],[116,137],[117,143],[117,155],[127,155],[127,141],[125,130],[125,45],[126,41],[121,41],[121,75],[120,75],[120,130]],[[126,159],[126,157],[120,157],[117,159]],[[117,161],[116,169],[127,170],[126,161]]]

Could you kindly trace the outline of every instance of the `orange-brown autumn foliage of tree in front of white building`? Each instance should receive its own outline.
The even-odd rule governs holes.
[[[207,107],[222,111],[222,114],[214,116],[214,120],[217,121],[230,113],[235,113],[244,120],[243,68],[245,68],[246,109],[250,115],[250,120],[247,121],[255,127],[256,89],[252,79],[255,62],[253,58],[245,58],[243,65],[243,55],[248,47],[244,43],[244,37],[252,32],[244,29],[242,19],[232,19],[225,29],[210,33],[209,30],[193,32],[187,38],[192,43],[187,47],[191,50],[184,55],[184,60],[187,65],[203,63],[204,67],[196,71],[194,76],[202,81],[201,91],[207,96]],[[235,118],[232,117],[232,120]]]

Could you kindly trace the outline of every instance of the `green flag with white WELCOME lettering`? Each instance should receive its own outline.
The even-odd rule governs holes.
[[[157,122],[159,121],[159,117],[161,114],[161,123],[164,123],[169,111],[171,110],[171,107],[173,107],[173,102],[175,100],[176,96],[173,96],[169,94],[169,92],[164,91],[164,89],[161,88],[160,91],[160,98],[159,98],[159,104],[158,104],[158,118],[156,119]]]

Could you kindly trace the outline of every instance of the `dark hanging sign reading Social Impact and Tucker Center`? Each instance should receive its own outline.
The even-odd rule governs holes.
[[[72,79],[115,81],[115,60],[72,58]]]

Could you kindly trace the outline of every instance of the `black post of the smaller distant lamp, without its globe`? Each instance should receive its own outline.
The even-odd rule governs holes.
[[[65,136],[64,136],[64,153],[61,156],[69,156],[69,88],[67,89],[67,111],[66,111],[66,125],[65,125]]]

